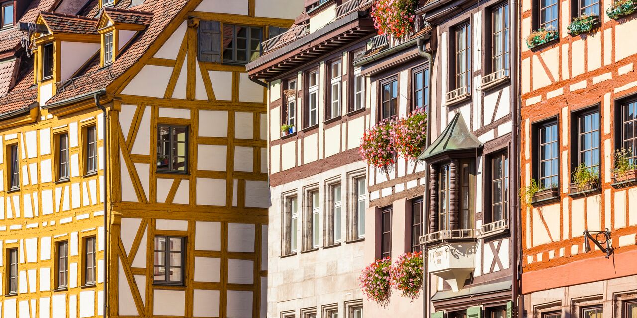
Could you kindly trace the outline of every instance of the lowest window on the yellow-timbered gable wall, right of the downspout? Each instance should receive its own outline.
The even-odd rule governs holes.
[[[183,284],[184,241],[184,237],[155,236],[155,283]]]

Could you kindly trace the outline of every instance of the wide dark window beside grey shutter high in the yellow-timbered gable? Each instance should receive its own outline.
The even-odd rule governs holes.
[[[261,53],[260,27],[224,24],[222,51],[224,63],[246,64]]]

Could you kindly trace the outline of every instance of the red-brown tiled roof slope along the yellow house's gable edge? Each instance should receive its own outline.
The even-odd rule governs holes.
[[[124,8],[125,2],[126,1],[122,1],[118,3],[117,8]],[[124,74],[129,67],[141,59],[144,53],[148,52],[150,45],[155,42],[159,34],[166,29],[166,26],[175,19],[176,15],[182,11],[188,3],[189,1],[183,0],[147,0],[144,4],[136,6],[135,8],[138,11],[153,14],[148,27],[144,31],[141,31],[141,34],[138,34],[138,36],[124,48],[111,66],[100,67],[99,55],[95,55],[92,60],[87,63],[85,69],[80,71],[78,76],[71,79],[73,85],[70,85],[62,92],[58,92],[52,99],[48,100],[47,104],[54,104],[55,102],[71,99],[87,92],[103,89],[113,83],[118,76]],[[96,76],[96,74],[98,76]]]

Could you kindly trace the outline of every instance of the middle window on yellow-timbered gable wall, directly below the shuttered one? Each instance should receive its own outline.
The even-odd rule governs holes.
[[[188,127],[157,126],[157,170],[188,172]]]

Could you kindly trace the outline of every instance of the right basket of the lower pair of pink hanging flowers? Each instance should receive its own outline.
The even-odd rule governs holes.
[[[418,298],[422,289],[422,268],[422,252],[398,256],[390,271],[394,289],[400,291],[401,296],[410,298],[411,301]]]

